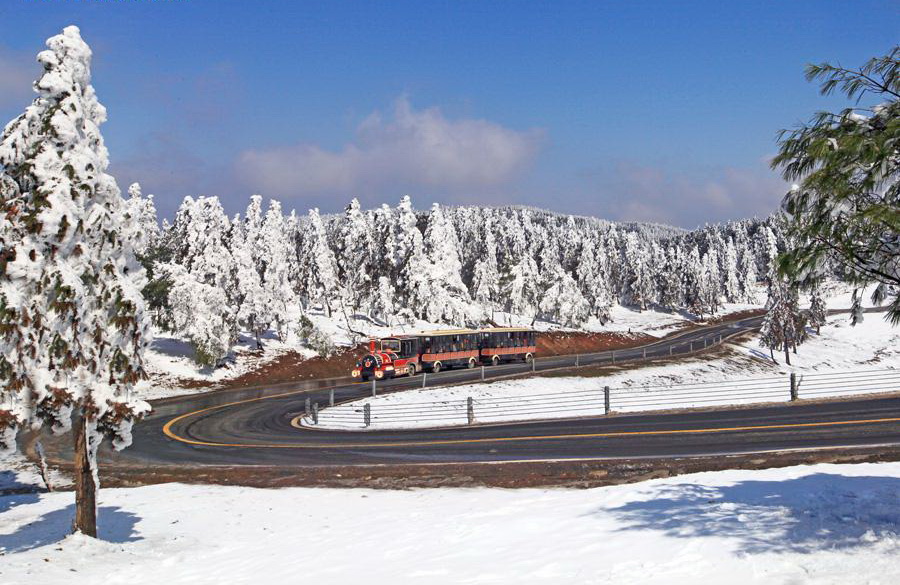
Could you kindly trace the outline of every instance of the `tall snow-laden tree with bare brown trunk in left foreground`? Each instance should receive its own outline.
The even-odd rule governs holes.
[[[91,50],[77,27],[47,41],[38,97],[0,138],[0,452],[16,431],[75,433],[75,529],[96,536],[97,448],[122,449],[149,406],[150,323],[138,232],[100,134]]]

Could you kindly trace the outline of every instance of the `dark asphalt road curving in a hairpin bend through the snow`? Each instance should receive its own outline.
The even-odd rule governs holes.
[[[695,329],[656,343],[578,357],[580,365],[684,356],[759,326],[760,318]],[[538,371],[574,365],[574,356],[537,361]],[[485,377],[527,373],[526,364],[485,368]],[[480,369],[428,375],[426,383],[477,380]],[[386,380],[379,392],[421,386],[422,376]],[[309,397],[327,404],[371,393],[370,383],[332,388],[253,388],[158,403],[135,426],[131,463],[332,466],[391,463],[598,460],[691,457],[786,449],[900,444],[900,398],[797,402],[731,410],[614,415],[452,429],[339,432],[290,421]],[[900,390],[900,388],[898,388]]]

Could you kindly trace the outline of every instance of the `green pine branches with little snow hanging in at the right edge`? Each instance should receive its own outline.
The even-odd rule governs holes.
[[[829,263],[860,287],[879,284],[873,300],[889,301],[888,318],[898,324],[900,45],[858,69],[808,65],[806,78],[854,104],[779,137],[772,167],[798,182],[783,201],[795,245],[780,267],[801,285],[820,279]],[[858,107],[866,96],[875,103]]]

